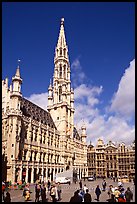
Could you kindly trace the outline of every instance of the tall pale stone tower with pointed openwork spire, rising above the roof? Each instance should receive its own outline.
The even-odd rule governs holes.
[[[54,56],[53,84],[48,89],[48,111],[62,135],[72,136],[74,127],[74,91],[70,81],[68,46],[64,31],[64,18]]]

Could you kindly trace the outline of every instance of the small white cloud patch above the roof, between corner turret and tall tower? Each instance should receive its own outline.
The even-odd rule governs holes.
[[[27,97],[26,97],[27,98]],[[32,94],[30,97],[27,98],[29,101],[35,103],[36,105],[40,106],[41,108],[47,110],[48,105],[48,92],[41,93],[41,94]]]

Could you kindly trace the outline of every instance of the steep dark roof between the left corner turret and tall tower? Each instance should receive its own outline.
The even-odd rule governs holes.
[[[31,117],[32,119],[40,121],[43,124],[48,124],[52,128],[56,128],[50,113],[30,102],[26,98],[21,99],[21,111],[23,112],[23,115],[27,117]]]

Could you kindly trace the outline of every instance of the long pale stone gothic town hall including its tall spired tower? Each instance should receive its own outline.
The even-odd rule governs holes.
[[[54,65],[48,111],[22,96],[19,65],[10,87],[8,78],[2,81],[3,180],[31,183],[37,179],[54,180],[56,173],[70,168],[78,178],[88,175],[86,127],[83,125],[78,133],[74,126],[74,91],[64,19]]]

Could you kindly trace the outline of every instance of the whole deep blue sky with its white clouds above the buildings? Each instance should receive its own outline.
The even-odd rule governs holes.
[[[116,141],[116,135],[130,143],[134,139],[134,7],[132,2],[2,3],[2,78],[8,77],[10,84],[21,59],[23,96],[46,107],[64,17],[77,127],[84,119],[87,141],[93,143],[98,137]],[[88,114],[83,115],[85,108]],[[116,121],[123,124],[119,132]]]

